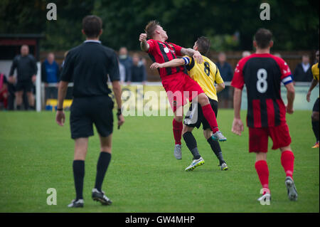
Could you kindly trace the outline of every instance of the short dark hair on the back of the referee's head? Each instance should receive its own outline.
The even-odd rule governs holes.
[[[102,20],[99,16],[89,15],[82,19],[82,29],[87,38],[97,38],[102,29]]]

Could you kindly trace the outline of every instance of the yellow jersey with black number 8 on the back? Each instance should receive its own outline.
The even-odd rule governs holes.
[[[189,56],[183,56],[188,75],[196,80],[203,92],[218,102],[217,90],[215,90],[215,83],[223,83],[218,67],[209,58],[202,56],[203,63],[199,64]]]

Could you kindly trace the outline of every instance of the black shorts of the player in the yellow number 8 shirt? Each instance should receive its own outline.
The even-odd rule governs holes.
[[[213,112],[215,112],[215,117],[218,116],[218,102],[209,98],[209,102]],[[194,106],[194,108],[193,108]],[[183,124],[188,127],[199,128],[202,123],[203,130],[210,129],[210,125],[203,116],[201,105],[198,103],[191,103],[186,117],[184,118]]]

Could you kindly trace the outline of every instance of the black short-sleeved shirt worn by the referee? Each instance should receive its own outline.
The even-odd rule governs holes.
[[[85,41],[69,51],[60,80],[73,82],[73,97],[108,95],[107,75],[120,80],[116,53],[100,41]]]

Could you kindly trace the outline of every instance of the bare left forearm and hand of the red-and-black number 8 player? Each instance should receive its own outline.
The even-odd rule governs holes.
[[[235,88],[235,93],[233,95],[233,109],[235,111],[235,117],[233,119],[233,128],[231,131],[238,135],[241,135],[241,132],[244,130],[243,123],[240,118],[241,95],[242,90]]]

